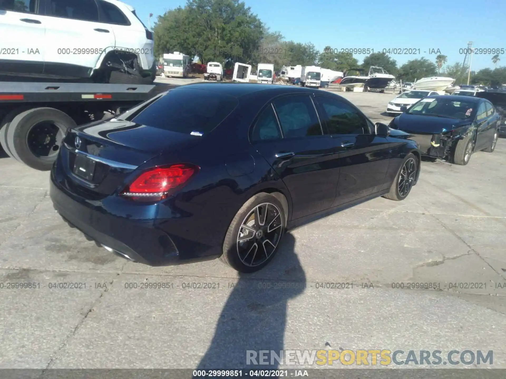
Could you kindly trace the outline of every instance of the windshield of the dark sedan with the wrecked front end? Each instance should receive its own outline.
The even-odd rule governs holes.
[[[473,115],[474,102],[462,102],[449,99],[422,99],[407,112],[412,115],[438,116],[456,118],[459,120],[469,119]]]

